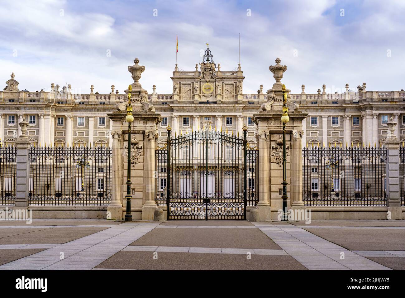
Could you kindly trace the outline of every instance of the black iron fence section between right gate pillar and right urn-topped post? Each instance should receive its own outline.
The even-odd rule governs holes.
[[[386,148],[303,148],[307,206],[386,206]]]

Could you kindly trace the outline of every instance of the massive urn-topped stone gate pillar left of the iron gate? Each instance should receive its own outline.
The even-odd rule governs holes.
[[[139,83],[141,73],[145,66],[139,65],[139,59],[134,60],[134,65],[128,66],[134,82],[131,84],[131,106],[134,121],[131,127],[130,146],[128,146],[128,122],[126,122],[126,108],[128,106],[128,89],[125,90],[124,102],[118,103],[117,111],[107,114],[113,121],[113,198],[109,210],[119,212],[121,206],[121,219],[126,212],[124,197],[126,195],[128,150],[131,152],[131,214],[132,219],[153,220],[156,209],[155,203],[155,149],[158,137],[157,125],[161,122],[160,114],[156,114],[155,108],[148,102],[147,90]],[[122,137],[119,135],[122,134]],[[129,147],[129,148],[128,148]],[[114,152],[117,155],[114,155]],[[119,163],[119,166],[117,165]],[[117,183],[117,184],[115,184]]]

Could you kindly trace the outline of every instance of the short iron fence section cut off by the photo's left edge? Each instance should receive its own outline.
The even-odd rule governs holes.
[[[14,205],[15,158],[15,147],[2,147],[0,144],[0,206]]]

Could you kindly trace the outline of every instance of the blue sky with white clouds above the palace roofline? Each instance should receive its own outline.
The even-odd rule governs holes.
[[[1,0],[0,80],[14,72],[19,88],[72,85],[75,93],[122,91],[128,65],[146,66],[149,93],[171,93],[177,63],[194,71],[207,38],[222,71],[241,66],[244,93],[271,88],[269,65],[280,57],[293,93],[322,84],[340,92],[405,88],[405,1],[124,1]],[[5,83],[3,83],[6,86]]]

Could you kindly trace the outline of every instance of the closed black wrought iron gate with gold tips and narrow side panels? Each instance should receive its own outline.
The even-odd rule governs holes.
[[[243,137],[200,130],[156,149],[156,203],[168,219],[241,219],[258,201],[258,151]]]

